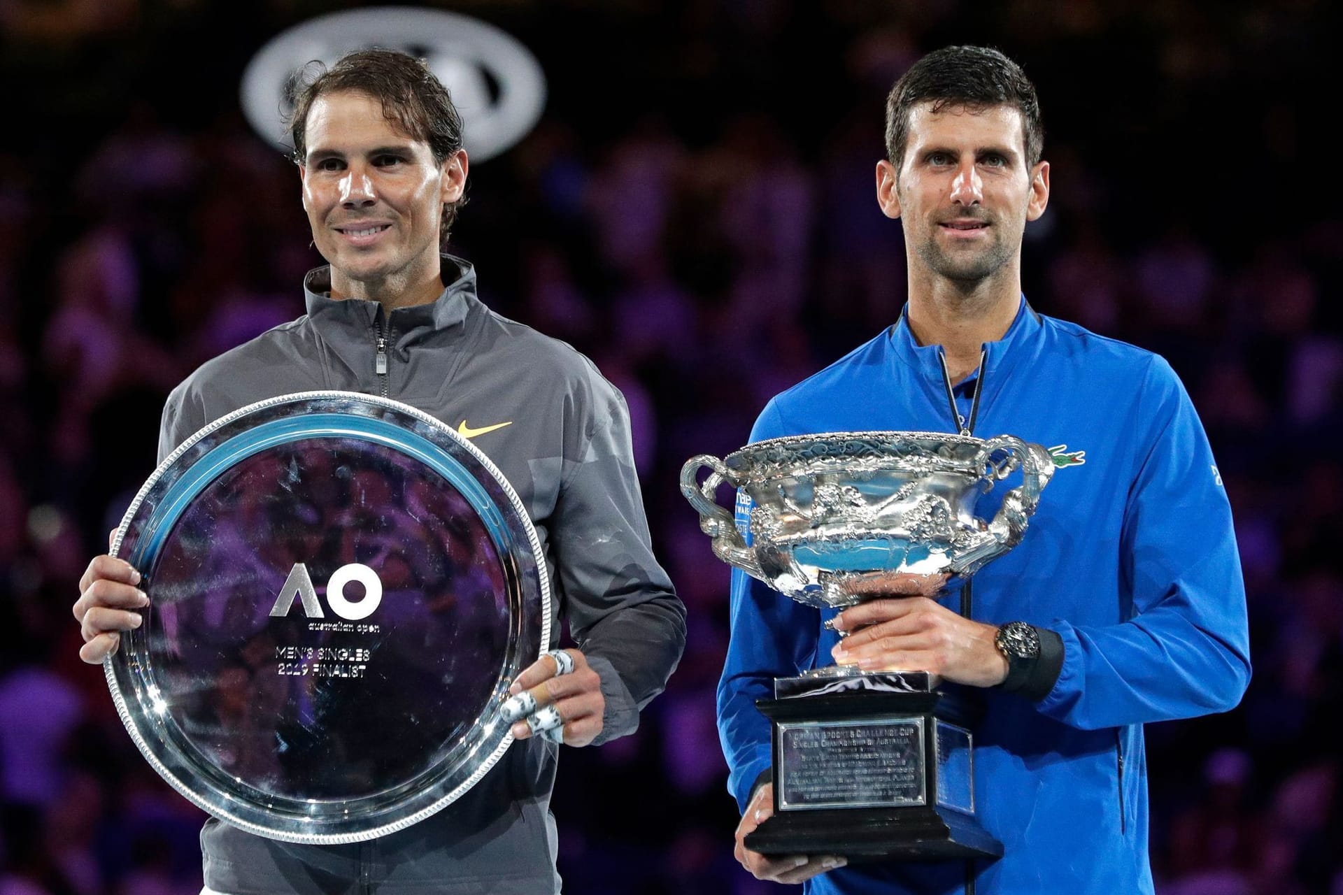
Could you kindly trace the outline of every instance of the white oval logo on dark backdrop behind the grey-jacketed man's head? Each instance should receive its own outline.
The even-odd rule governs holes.
[[[330,66],[368,47],[403,50],[428,64],[462,114],[463,144],[473,162],[513,146],[541,117],[545,75],[516,38],[455,12],[377,7],[310,19],[262,47],[243,72],[247,121],[269,142],[291,149],[285,85],[314,59]]]

